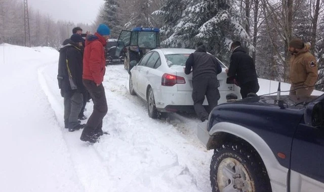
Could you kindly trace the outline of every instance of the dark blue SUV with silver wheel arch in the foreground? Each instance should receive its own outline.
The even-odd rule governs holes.
[[[324,191],[324,94],[221,104],[197,135],[213,191]]]

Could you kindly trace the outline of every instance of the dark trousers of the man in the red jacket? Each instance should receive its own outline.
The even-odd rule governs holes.
[[[97,86],[94,81],[83,79],[83,84],[90,93],[94,104],[93,112],[83,130],[83,134],[92,136],[96,132],[102,131],[102,119],[108,111],[106,94],[102,83]]]

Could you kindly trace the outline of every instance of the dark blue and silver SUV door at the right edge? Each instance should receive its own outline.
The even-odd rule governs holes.
[[[302,120],[298,125],[292,146],[290,184],[290,191],[324,191],[323,124],[314,127]]]

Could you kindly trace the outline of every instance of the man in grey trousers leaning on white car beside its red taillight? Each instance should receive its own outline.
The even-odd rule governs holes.
[[[209,112],[217,106],[220,99],[217,74],[222,72],[222,68],[215,56],[207,53],[202,43],[199,43],[196,51],[189,55],[184,69],[185,74],[190,74],[191,68],[193,107],[197,116],[204,122],[208,120]],[[205,95],[209,112],[203,106]]]

